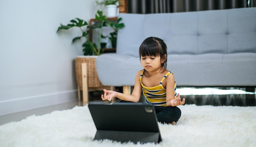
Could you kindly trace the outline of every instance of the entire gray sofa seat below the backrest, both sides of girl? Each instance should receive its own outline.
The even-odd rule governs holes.
[[[106,86],[133,86],[137,71],[142,69],[139,58],[116,53],[102,54],[96,65]],[[174,73],[177,86],[255,86],[255,65],[256,53],[167,56],[167,69]],[[244,78],[247,76],[255,78]]]

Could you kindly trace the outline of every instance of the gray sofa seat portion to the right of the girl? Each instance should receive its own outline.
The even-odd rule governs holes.
[[[256,85],[256,53],[168,55],[167,58],[167,69],[175,74],[177,86]]]

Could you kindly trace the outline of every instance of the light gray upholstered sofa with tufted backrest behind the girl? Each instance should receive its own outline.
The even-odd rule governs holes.
[[[256,8],[182,13],[120,13],[116,53],[96,60],[103,85],[132,86],[142,69],[139,46],[150,36],[167,45],[177,86],[256,86]]]

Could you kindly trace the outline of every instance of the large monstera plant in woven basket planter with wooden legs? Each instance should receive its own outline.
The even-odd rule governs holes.
[[[96,23],[94,25],[89,25],[88,22],[85,20],[75,18],[70,20],[70,23],[68,25],[62,25],[58,27],[57,33],[59,31],[68,30],[74,27],[77,27],[81,30],[81,36],[75,37],[72,40],[72,43],[75,43],[77,40],[80,40],[81,38],[85,38],[85,42],[83,43],[83,54],[85,56],[77,56],[75,60],[75,70],[76,70],[76,82],[78,87],[78,96],[80,99],[80,90],[83,89],[83,79],[82,79],[82,63],[87,63],[87,76],[86,80],[87,82],[87,90],[90,89],[96,89],[96,88],[103,88],[104,86],[101,84],[98,76],[97,76],[97,70],[96,70],[96,58],[103,53],[104,48],[101,49],[101,38],[105,38],[105,36],[102,35],[102,29],[104,26],[107,26],[108,23],[106,22],[107,17],[102,14],[102,11],[97,11],[95,14],[95,18],[99,20],[100,23]],[[90,33],[90,29],[99,29],[98,32],[98,45],[90,41],[90,38],[88,37]],[[89,89],[90,88],[90,89]],[[107,88],[107,87],[104,87]],[[109,87],[108,87],[109,88]],[[84,93],[83,93],[84,95]],[[86,96],[83,96],[84,101],[88,101],[88,93]]]

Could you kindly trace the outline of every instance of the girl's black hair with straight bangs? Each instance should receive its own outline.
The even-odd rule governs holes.
[[[161,67],[166,69],[167,66],[167,46],[164,40],[157,37],[146,38],[139,47],[139,60],[141,56],[160,56],[161,59],[164,58],[166,54],[166,59],[162,63]]]

